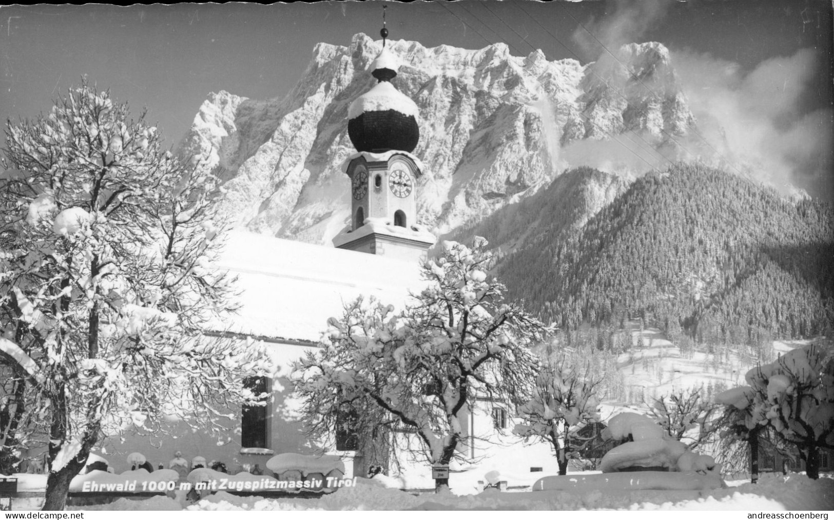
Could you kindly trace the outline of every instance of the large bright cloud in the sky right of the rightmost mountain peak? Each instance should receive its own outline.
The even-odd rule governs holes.
[[[687,138],[687,147],[776,187],[790,183],[830,197],[831,108],[803,108],[819,63],[815,50],[773,57],[749,72],[689,51],[672,52],[671,62],[700,134]]]

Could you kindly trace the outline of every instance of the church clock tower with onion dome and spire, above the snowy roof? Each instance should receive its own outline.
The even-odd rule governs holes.
[[[398,60],[385,47],[371,64],[377,84],[348,109],[348,135],[357,153],[347,161],[350,226],[333,239],[337,248],[416,261],[435,236],[417,224],[417,181],[422,164],[411,152],[420,140],[417,105],[391,79]]]

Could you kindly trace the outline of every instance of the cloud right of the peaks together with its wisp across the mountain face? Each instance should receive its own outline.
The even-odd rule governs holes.
[[[621,29],[621,28],[620,28]],[[696,117],[696,130],[663,148],[651,135],[582,140],[560,152],[560,167],[585,164],[610,173],[645,173],[700,159],[791,193],[834,195],[831,107],[809,109],[820,57],[813,49],[772,57],[752,70],[691,51],[671,51],[671,65]],[[652,143],[652,144],[650,144]]]

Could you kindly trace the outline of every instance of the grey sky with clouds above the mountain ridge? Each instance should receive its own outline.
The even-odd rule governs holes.
[[[173,146],[209,92],[282,97],[317,42],[378,37],[383,5],[389,37],[426,47],[505,42],[515,55],[585,63],[625,42],[662,42],[712,148],[831,196],[828,0],[3,6],[0,117],[37,117],[86,76],[134,114],[147,108]]]

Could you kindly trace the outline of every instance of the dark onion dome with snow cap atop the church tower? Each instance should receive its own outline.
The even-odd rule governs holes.
[[[390,82],[398,68],[397,58],[383,47],[370,67],[379,82],[350,103],[348,136],[358,152],[413,152],[420,141],[417,105]]]

